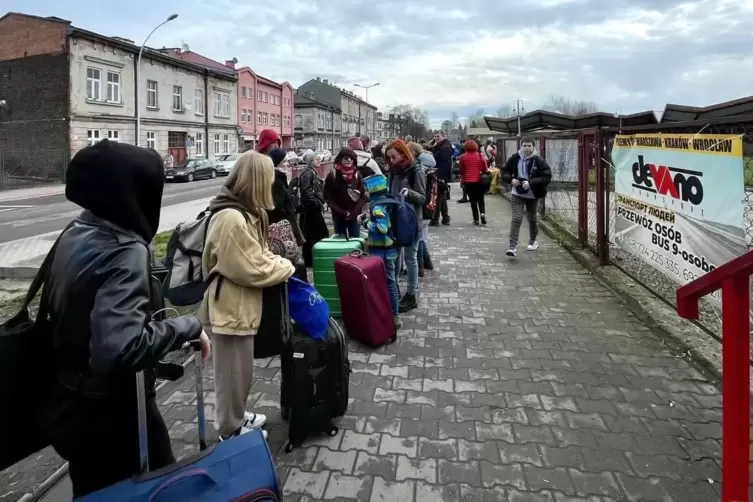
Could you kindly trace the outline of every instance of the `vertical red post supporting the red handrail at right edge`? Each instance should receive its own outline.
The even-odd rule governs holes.
[[[722,283],[722,500],[747,502],[750,482],[750,278]]]

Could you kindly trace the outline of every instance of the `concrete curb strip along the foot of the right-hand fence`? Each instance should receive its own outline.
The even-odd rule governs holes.
[[[679,317],[676,311],[618,268],[599,266],[596,257],[582,249],[574,236],[546,220],[539,220],[539,227],[612,291],[673,353],[690,359],[713,380],[721,381],[721,345],[708,333]],[[647,300],[651,302],[650,307]]]

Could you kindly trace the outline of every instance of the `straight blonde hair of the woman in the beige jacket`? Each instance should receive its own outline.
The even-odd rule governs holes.
[[[261,222],[261,235],[267,242],[269,218],[266,210],[275,208],[272,198],[272,183],[275,167],[272,159],[262,153],[249,150],[238,157],[233,171],[225,181],[230,191],[246,210]]]

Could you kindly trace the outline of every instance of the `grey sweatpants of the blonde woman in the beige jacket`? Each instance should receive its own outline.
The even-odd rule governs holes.
[[[222,435],[237,431],[254,383],[254,336],[212,335],[215,427]]]

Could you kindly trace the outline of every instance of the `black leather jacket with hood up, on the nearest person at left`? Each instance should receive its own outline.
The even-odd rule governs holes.
[[[159,155],[131,145],[102,141],[68,166],[66,196],[85,210],[60,237],[44,297],[69,390],[135,402],[136,372],[201,334],[195,316],[151,320],[148,243],[163,186]]]

